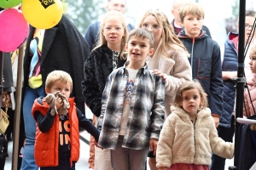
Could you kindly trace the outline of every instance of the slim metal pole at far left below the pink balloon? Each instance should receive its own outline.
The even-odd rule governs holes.
[[[15,105],[15,138],[13,142],[12,170],[17,170],[19,156],[19,138],[20,138],[20,111],[21,111],[21,88],[23,72],[23,54],[24,45],[19,48],[17,86],[16,86],[16,105]]]

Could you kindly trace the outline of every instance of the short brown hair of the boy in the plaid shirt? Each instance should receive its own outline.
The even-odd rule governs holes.
[[[149,40],[149,45],[150,45],[150,48],[153,47],[154,45],[154,36],[153,34],[148,31],[147,29],[144,29],[144,28],[136,28],[134,30],[132,30],[129,34],[129,37],[128,37],[128,41],[130,41],[131,37],[143,37],[143,39],[148,39]]]

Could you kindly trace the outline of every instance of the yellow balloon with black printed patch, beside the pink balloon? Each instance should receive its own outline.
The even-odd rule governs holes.
[[[23,0],[22,13],[26,21],[36,28],[49,29],[61,20],[61,0]]]

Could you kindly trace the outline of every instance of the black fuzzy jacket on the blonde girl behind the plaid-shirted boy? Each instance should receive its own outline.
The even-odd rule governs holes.
[[[117,67],[125,65],[125,61],[119,57]],[[96,48],[84,62],[83,94],[86,105],[96,116],[101,115],[102,93],[112,71],[113,52],[107,45]]]

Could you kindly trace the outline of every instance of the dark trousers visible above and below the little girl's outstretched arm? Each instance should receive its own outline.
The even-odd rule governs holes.
[[[231,117],[230,127],[218,127],[218,137],[226,142],[233,142],[235,133],[235,116]],[[211,170],[224,170],[226,159],[215,154],[212,154]]]

